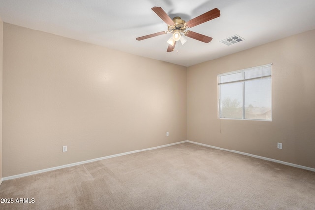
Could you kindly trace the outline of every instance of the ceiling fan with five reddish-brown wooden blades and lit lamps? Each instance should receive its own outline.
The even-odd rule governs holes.
[[[202,15],[199,15],[198,17],[195,17],[187,22],[185,20],[182,20],[180,17],[174,17],[171,19],[167,13],[161,8],[161,7],[153,7],[151,8],[165,23],[167,23],[168,28],[167,31],[161,31],[158,33],[153,33],[146,36],[138,37],[137,40],[141,41],[144,39],[152,38],[155,36],[167,34],[167,33],[173,33],[172,37],[167,41],[168,48],[166,52],[172,52],[174,51],[175,45],[177,41],[180,41],[182,44],[184,44],[187,39],[185,36],[189,38],[196,39],[198,41],[202,41],[204,43],[209,43],[212,38],[209,36],[202,35],[200,33],[196,33],[190,30],[185,31],[187,28],[191,28],[194,26],[197,26],[199,24],[202,24],[204,22],[207,22],[209,20],[212,20],[214,18],[220,17],[221,13],[220,10],[215,8],[212,9]]]

